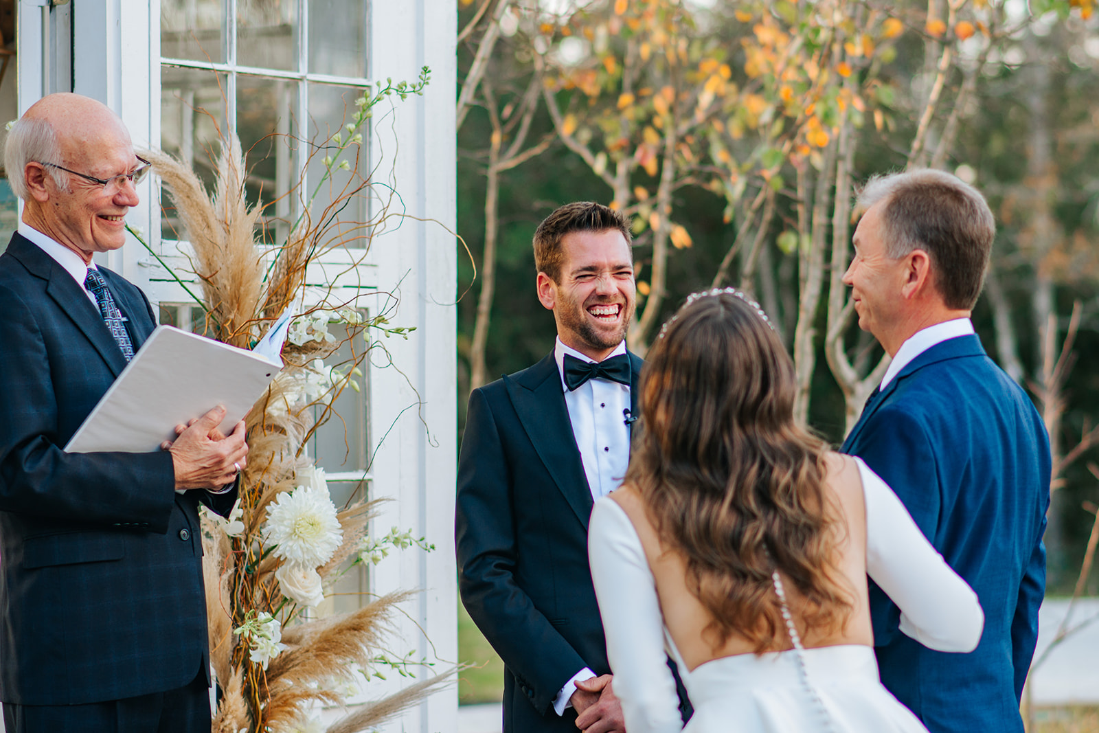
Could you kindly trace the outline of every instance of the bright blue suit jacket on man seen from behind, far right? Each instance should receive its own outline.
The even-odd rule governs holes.
[[[1030,398],[977,336],[951,338],[870,398],[842,449],[893,488],[985,610],[974,652],[933,652],[899,631],[897,607],[872,584],[881,681],[932,733],[1021,733],[1050,503],[1050,442]]]

